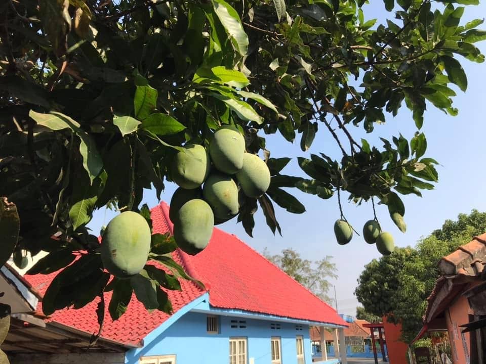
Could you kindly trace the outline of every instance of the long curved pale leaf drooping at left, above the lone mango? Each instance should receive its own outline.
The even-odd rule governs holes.
[[[83,167],[88,172],[91,183],[93,183],[93,180],[103,167],[103,160],[98,153],[95,142],[88,133],[80,129],[79,123],[69,116],[55,111],[51,111],[49,114],[41,114],[30,110],[29,117],[34,119],[37,124],[52,130],[70,129],[79,137],[81,141],[79,144],[79,153],[83,157]]]

